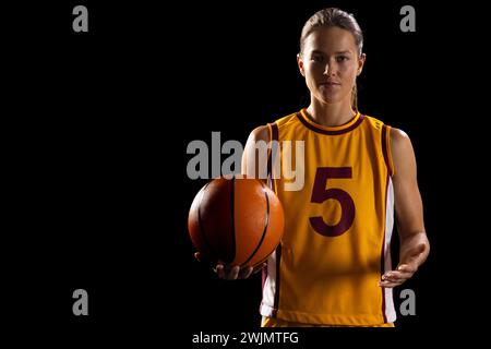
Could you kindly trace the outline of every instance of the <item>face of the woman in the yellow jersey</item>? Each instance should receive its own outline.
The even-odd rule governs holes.
[[[297,57],[312,96],[323,104],[351,104],[351,91],[366,56],[358,56],[355,37],[337,26],[313,31]]]

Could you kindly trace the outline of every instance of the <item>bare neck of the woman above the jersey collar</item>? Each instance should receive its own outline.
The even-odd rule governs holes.
[[[312,119],[325,127],[338,127],[347,123],[356,116],[351,105],[347,103],[321,104],[312,98],[307,112]]]

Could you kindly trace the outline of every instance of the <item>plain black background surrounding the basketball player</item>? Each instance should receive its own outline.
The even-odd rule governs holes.
[[[88,33],[72,31],[76,4],[88,9]],[[416,8],[416,33],[399,29],[405,4]],[[5,9],[10,324],[77,340],[172,338],[177,347],[200,330],[259,327],[260,276],[218,280],[194,261],[187,215],[206,180],[188,179],[185,149],[193,140],[211,144],[212,131],[244,144],[255,127],[307,106],[298,39],[324,7],[354,13],[364,32],[361,112],[406,131],[418,159],[432,251],[400,288],[415,290],[417,315],[399,315],[393,334],[474,327],[483,306],[474,257],[486,234],[477,205],[484,189],[476,184],[486,183],[484,41],[477,8],[468,7],[470,15],[422,1],[85,0]],[[77,288],[88,291],[86,317],[72,314]],[[325,333],[354,340],[333,330],[304,338]]]

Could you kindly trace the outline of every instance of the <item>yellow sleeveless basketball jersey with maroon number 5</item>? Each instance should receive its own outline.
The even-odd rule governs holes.
[[[324,127],[302,109],[268,131],[279,143],[280,173],[273,171],[271,185],[285,209],[285,233],[263,273],[261,314],[326,325],[394,322],[392,289],[378,286],[391,269],[391,128],[360,113]],[[301,188],[291,185],[288,161],[302,171]]]

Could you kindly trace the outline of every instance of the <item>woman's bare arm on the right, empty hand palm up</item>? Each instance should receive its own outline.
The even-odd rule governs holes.
[[[382,276],[382,287],[399,286],[411,278],[430,253],[411,142],[406,133],[397,129],[392,130],[391,139],[395,168],[392,180],[400,253],[396,269]]]

